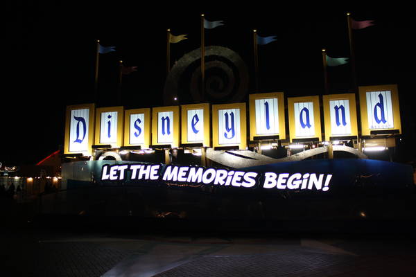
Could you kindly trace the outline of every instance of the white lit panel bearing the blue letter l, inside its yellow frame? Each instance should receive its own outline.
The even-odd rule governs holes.
[[[256,133],[279,134],[277,98],[256,99]]]

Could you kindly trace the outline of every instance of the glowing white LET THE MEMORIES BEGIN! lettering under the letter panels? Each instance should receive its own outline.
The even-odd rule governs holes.
[[[163,181],[174,184],[203,184],[209,186],[277,189],[277,190],[322,190],[331,184],[331,174],[253,172],[203,168],[198,166],[175,166],[149,163],[105,165],[101,181]]]

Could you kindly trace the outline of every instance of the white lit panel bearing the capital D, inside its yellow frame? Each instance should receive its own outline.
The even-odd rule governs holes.
[[[69,123],[69,151],[88,151],[89,109],[71,110]]]

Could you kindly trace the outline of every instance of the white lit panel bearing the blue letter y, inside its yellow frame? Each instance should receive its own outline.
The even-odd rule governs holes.
[[[240,144],[240,109],[218,109],[218,143]]]

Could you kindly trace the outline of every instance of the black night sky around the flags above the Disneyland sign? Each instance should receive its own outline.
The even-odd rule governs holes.
[[[346,12],[355,20],[374,20],[374,26],[354,31],[358,84],[398,84],[404,143],[415,139],[415,26],[413,9],[324,8],[277,6],[256,2],[236,9],[223,3],[204,8],[158,2],[128,6],[94,2],[12,1],[3,9],[1,89],[1,152],[3,165],[33,164],[64,142],[66,105],[94,102],[96,39],[116,52],[101,55],[98,107],[119,105],[117,62],[138,66],[123,78],[127,108],[158,107],[166,80],[166,29],[188,39],[171,44],[171,60],[200,46],[200,14],[224,26],[207,30],[206,46],[218,45],[238,53],[253,85],[252,30],[276,35],[277,41],[259,46],[260,91],[284,91],[286,96],[324,92],[322,48],[331,57],[349,57]],[[349,64],[329,68],[331,93],[347,93]],[[414,146],[412,145],[414,148]],[[414,159],[408,151],[406,161]]]

